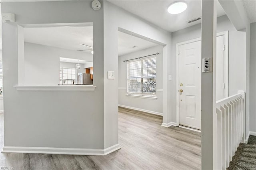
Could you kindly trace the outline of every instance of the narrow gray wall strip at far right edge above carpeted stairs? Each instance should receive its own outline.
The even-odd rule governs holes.
[[[256,22],[250,30],[250,131],[256,132]]]

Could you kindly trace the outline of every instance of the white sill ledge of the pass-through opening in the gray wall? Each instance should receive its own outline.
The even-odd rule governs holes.
[[[94,85],[14,86],[17,91],[94,91]]]

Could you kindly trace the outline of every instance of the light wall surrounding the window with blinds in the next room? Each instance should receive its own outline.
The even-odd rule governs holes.
[[[163,47],[158,45],[155,47],[150,47],[143,49],[141,51],[136,51],[126,55],[118,57],[118,103],[119,105],[135,107],[138,109],[144,109],[151,112],[163,113]],[[134,59],[137,57],[142,57],[146,55],[151,55],[154,53],[159,53],[156,55],[156,97],[157,99],[142,99],[136,97],[126,96],[126,83],[127,83],[127,71],[126,71],[126,62],[124,60]]]

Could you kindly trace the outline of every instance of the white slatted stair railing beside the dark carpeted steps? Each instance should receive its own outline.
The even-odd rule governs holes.
[[[245,93],[227,97],[216,102],[213,116],[213,166],[225,170],[236,152],[244,143]]]

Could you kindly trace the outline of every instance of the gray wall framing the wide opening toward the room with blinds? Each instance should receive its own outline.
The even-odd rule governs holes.
[[[118,140],[115,135],[118,132],[118,79],[108,80],[107,71],[115,71],[118,77],[118,29],[132,35],[147,38],[150,41],[164,45],[163,48],[163,122],[169,123],[171,119],[171,81],[170,74],[170,51],[171,35],[169,32],[158,28],[121,8],[104,1],[104,127],[105,136]],[[174,90],[176,91],[176,90]],[[111,99],[109,98],[110,96]],[[111,146],[113,141],[105,138],[105,147]]]

